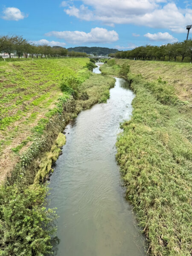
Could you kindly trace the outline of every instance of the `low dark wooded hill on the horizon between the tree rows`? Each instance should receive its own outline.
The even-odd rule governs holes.
[[[96,55],[107,55],[109,53],[115,53],[119,52],[118,49],[110,49],[107,47],[71,47],[67,49],[69,52],[74,51],[74,52],[86,52],[87,54],[96,54]]]

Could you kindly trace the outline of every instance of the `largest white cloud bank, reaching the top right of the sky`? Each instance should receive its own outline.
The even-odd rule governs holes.
[[[166,0],[81,0],[77,8],[73,2],[64,9],[67,15],[81,20],[99,20],[116,24],[145,25],[166,28],[173,32],[186,32],[186,24],[192,23],[192,9],[181,9]],[[75,3],[75,2],[74,2]]]

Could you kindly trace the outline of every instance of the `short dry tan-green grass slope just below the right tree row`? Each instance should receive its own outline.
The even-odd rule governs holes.
[[[124,63],[130,65],[132,74],[141,74],[146,81],[154,81],[161,77],[163,81],[175,88],[175,94],[180,100],[192,103],[192,65],[190,63],[116,59],[116,65],[111,67],[114,75],[118,75],[119,66]],[[104,69],[108,67],[103,67],[102,72],[105,72]]]

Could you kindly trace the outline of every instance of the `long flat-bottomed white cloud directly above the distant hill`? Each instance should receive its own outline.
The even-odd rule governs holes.
[[[55,36],[62,38],[71,44],[82,43],[111,43],[119,39],[119,36],[114,30],[107,30],[103,28],[91,29],[89,33],[83,31],[51,31],[45,34],[46,36]]]

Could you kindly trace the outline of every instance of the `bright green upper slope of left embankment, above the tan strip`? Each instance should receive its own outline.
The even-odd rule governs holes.
[[[11,125],[12,129],[12,123],[27,116],[34,106],[41,108],[41,115],[45,114],[61,94],[60,82],[64,76],[75,75],[84,81],[87,74],[83,70],[88,61],[73,58],[1,63],[0,133],[3,137],[7,136],[7,128]]]

